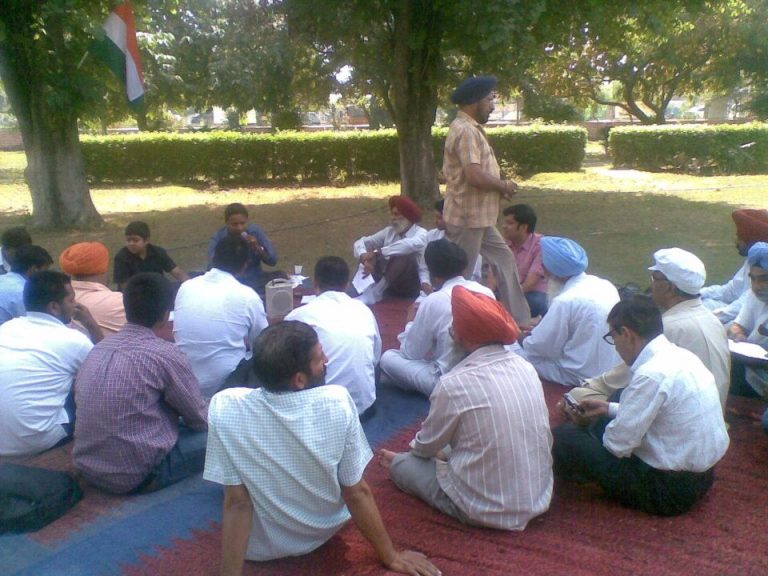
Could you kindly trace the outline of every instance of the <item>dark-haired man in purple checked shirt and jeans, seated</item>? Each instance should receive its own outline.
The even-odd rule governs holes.
[[[173,305],[170,282],[136,274],[123,301],[128,323],[91,350],[77,375],[72,453],[88,482],[115,494],[201,472],[207,439],[207,404],[189,361],[156,334]]]

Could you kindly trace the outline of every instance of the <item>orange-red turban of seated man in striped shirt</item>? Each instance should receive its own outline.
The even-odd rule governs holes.
[[[504,307],[485,294],[456,286],[451,293],[453,332],[473,344],[512,344],[520,329]]]

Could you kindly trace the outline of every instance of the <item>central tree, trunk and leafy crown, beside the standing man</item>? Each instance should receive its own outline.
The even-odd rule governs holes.
[[[566,5],[562,2],[558,4]],[[404,194],[437,194],[431,129],[459,78],[517,78],[536,45],[546,0],[283,0],[292,37],[310,40],[350,82],[385,103],[400,141]]]

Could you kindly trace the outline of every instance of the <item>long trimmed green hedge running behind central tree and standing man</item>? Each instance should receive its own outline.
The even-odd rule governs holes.
[[[447,129],[433,132],[442,163]],[[572,127],[488,130],[502,166],[519,173],[578,170],[586,131]],[[400,177],[394,130],[240,134],[145,133],[82,138],[93,182],[334,182]]]

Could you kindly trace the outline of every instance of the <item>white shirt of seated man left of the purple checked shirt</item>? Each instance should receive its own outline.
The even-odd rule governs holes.
[[[41,452],[66,436],[64,402],[91,348],[50,314],[0,326],[0,455]]]

